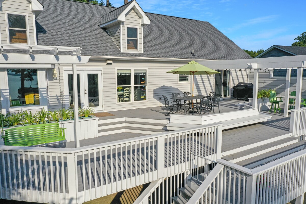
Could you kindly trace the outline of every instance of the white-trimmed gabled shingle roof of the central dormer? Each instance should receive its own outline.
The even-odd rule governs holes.
[[[125,21],[125,14],[129,12],[130,9],[134,9],[137,15],[140,17],[141,25],[147,25],[150,24],[150,19],[147,17],[147,15],[144,13],[144,11],[140,8],[138,3],[135,0],[132,0],[128,3],[126,3],[123,6],[118,7],[117,9],[114,9],[110,13],[107,13],[101,17],[101,20],[99,22],[99,26],[101,28],[109,27],[113,24],[116,24],[118,22],[124,22]]]

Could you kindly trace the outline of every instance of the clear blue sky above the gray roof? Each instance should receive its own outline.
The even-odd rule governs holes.
[[[110,0],[121,6],[124,0]],[[208,21],[242,49],[291,45],[306,31],[305,0],[137,0],[145,12]]]

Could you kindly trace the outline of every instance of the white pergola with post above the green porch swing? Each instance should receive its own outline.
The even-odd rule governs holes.
[[[1,44],[0,68],[30,68],[30,67],[54,67],[55,64],[71,64],[73,70],[73,102],[74,113],[78,115],[77,100],[77,74],[76,65],[86,64],[91,56],[81,56],[82,48],[65,46],[41,46],[41,45],[15,45]],[[7,51],[6,51],[7,50]],[[23,50],[26,54],[20,54]],[[33,50],[43,51],[45,54],[33,54]],[[60,51],[69,53],[61,55]],[[35,53],[35,52],[34,52]],[[0,87],[1,91],[1,87]],[[79,117],[74,117],[75,145],[80,147]]]

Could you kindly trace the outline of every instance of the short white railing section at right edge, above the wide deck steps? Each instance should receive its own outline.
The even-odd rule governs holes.
[[[306,107],[291,110],[290,132],[295,137],[306,135]]]

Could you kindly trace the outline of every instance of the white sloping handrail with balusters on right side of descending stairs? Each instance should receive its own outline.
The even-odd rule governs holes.
[[[223,182],[223,169],[224,166],[222,164],[217,164],[215,168],[209,173],[203,183],[199,186],[196,192],[192,195],[192,197],[188,200],[187,204],[195,204],[199,203],[200,200],[203,200],[204,194],[207,196],[207,189],[211,188],[211,184],[215,182],[217,178],[217,182],[222,184]],[[215,185],[214,185],[215,186]],[[207,199],[207,197],[205,197]],[[209,199],[211,200],[211,193],[209,193]],[[217,190],[217,196],[213,195],[212,198],[216,203],[221,202],[221,191]],[[203,202],[202,202],[203,203]],[[206,202],[205,202],[206,203]],[[215,202],[213,202],[215,203]]]

